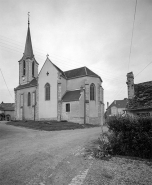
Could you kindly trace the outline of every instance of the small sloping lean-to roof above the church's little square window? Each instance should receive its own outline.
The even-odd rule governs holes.
[[[62,97],[63,102],[79,101],[81,96],[80,90],[67,91]]]

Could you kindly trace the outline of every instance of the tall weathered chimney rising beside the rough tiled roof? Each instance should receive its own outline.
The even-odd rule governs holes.
[[[127,73],[127,82],[128,86],[128,99],[133,99],[134,97],[134,75],[133,72]]]

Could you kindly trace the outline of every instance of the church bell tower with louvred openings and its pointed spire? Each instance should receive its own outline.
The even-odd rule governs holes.
[[[29,83],[38,76],[38,63],[34,58],[31,34],[30,34],[30,19],[28,13],[28,29],[26,36],[25,49],[23,57],[19,61],[19,85]]]

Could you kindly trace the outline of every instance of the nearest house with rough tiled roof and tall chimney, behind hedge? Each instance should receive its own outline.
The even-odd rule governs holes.
[[[133,72],[127,74],[127,113],[134,116],[152,115],[152,81],[134,84]]]

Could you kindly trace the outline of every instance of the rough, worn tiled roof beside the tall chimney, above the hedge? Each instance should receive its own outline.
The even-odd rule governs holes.
[[[127,109],[152,108],[152,81],[134,84],[134,98],[128,99]]]

